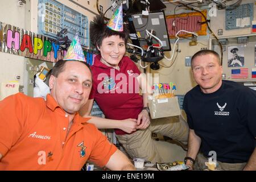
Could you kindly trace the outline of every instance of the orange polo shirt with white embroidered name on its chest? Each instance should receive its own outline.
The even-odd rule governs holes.
[[[47,101],[22,93],[0,102],[0,170],[80,170],[86,160],[105,166],[117,148],[77,113],[67,135],[68,115]]]

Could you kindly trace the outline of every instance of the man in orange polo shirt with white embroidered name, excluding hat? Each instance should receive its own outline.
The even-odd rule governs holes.
[[[92,88],[83,60],[57,61],[46,101],[18,93],[0,102],[0,171],[80,170],[87,160],[110,170],[135,169],[78,113]]]

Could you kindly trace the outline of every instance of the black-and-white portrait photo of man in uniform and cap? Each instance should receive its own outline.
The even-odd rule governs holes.
[[[244,47],[231,46],[228,47],[228,67],[244,67]]]

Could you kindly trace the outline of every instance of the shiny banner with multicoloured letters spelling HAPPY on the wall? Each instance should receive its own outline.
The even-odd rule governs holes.
[[[57,40],[38,35],[23,28],[0,22],[0,51],[56,62],[63,59],[66,51],[60,49]]]

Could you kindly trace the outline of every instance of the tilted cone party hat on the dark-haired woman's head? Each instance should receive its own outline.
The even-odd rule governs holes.
[[[123,31],[123,7],[119,6],[118,9],[113,14],[112,18],[109,20],[107,26],[114,31]]]

